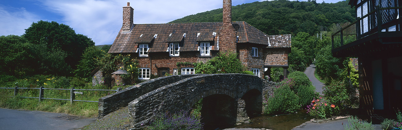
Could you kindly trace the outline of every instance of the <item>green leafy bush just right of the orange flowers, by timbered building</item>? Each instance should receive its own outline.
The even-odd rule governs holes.
[[[334,81],[329,85],[325,85],[322,93],[328,102],[336,106],[335,114],[340,114],[346,109],[345,106],[349,105],[349,95],[342,81]]]

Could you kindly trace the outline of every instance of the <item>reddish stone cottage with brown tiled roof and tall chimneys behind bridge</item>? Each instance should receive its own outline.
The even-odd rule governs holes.
[[[271,67],[288,68],[291,35],[267,35],[246,22],[232,22],[232,1],[223,0],[222,22],[134,24],[134,9],[123,7],[123,26],[108,53],[130,54],[139,60],[139,79],[194,73],[177,62],[206,62],[219,52],[238,54],[258,77]],[[286,77],[286,75],[285,75]]]

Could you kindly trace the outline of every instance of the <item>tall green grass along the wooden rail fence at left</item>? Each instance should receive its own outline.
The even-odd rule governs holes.
[[[33,81],[29,79],[17,79],[15,81],[10,81],[8,83],[3,83],[0,87],[14,87],[15,85],[21,87],[36,87],[44,86],[45,88],[63,88],[70,89],[75,87],[75,89],[109,89],[104,85],[92,86],[91,83],[85,83],[84,85],[74,85],[70,84],[68,80],[63,78],[46,78],[37,79],[32,78]],[[61,81],[64,80],[64,81]],[[117,87],[126,88],[128,86],[115,86],[112,89],[117,89]],[[98,101],[99,98],[114,93],[115,91],[82,91],[83,94],[76,94],[75,100],[86,100],[86,101]],[[58,112],[66,113],[77,116],[85,117],[96,117],[98,115],[98,103],[97,102],[74,102],[70,104],[70,101],[64,100],[49,100],[42,99],[39,102],[39,89],[18,89],[18,95],[14,96],[14,89],[0,89],[0,107],[8,109],[25,109],[25,110],[38,110],[45,112]],[[36,97],[36,98],[20,98],[20,97]],[[50,90],[45,89],[44,98],[55,98],[55,99],[66,99],[70,100],[69,90]]]

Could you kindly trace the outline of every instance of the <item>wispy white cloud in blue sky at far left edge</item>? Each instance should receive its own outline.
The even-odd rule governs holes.
[[[25,8],[10,8],[0,5],[0,36],[23,35],[26,28],[39,18]]]

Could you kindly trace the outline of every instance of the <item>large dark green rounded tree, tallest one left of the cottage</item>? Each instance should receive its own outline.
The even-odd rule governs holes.
[[[49,51],[54,54],[65,53],[66,57],[64,58],[64,62],[67,63],[68,67],[54,68],[47,66],[49,69],[55,69],[48,71],[49,73],[58,73],[57,71],[71,71],[67,70],[66,68],[75,69],[86,47],[94,45],[94,42],[87,36],[76,34],[75,31],[70,28],[70,26],[59,24],[54,21],[47,22],[40,20],[38,22],[33,22],[29,28],[25,29],[25,34],[23,36],[29,43],[45,44],[47,47],[47,50],[45,51]],[[63,66],[64,65],[58,67]]]

